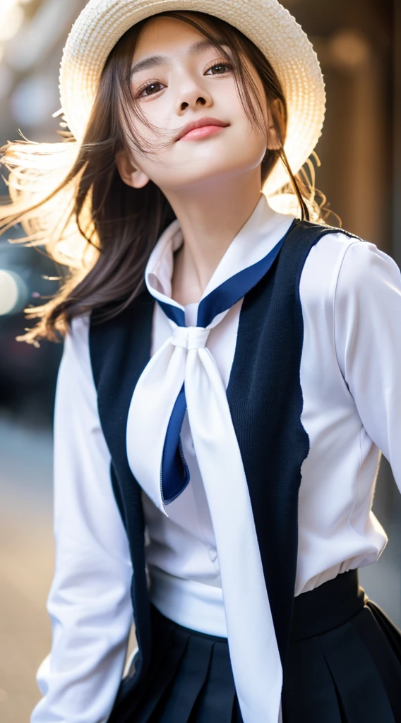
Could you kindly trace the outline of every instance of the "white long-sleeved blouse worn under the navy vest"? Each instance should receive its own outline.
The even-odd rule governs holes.
[[[264,257],[292,221],[261,197],[202,298]],[[145,281],[156,298],[171,301],[173,251],[182,241],[175,221],[151,254]],[[371,564],[387,542],[371,504],[379,450],[401,488],[400,269],[374,244],[341,232],[327,234],[309,252],[300,296],[301,421],[310,451],[301,469],[296,595],[337,573]],[[241,304],[207,339],[226,387]],[[181,307],[186,325],[196,323],[197,307]],[[111,488],[111,456],[98,416],[88,330],[87,315],[74,319],[57,380],[56,569],[48,596],[53,643],[38,670],[43,698],[31,723],[107,721],[132,620],[131,561]],[[171,327],[155,304],[151,355],[169,335]],[[169,516],[142,493],[150,598],[177,623],[225,636],[215,536],[187,414],[181,442],[191,480],[168,505]]]

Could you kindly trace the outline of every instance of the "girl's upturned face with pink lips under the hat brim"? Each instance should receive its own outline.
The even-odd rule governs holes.
[[[249,61],[243,62],[263,97],[259,76]],[[131,91],[152,126],[135,116],[132,129],[145,147],[155,150],[131,150],[124,168],[118,162],[129,185],[141,187],[151,179],[160,189],[177,192],[260,170],[267,131],[262,137],[254,129],[230,64],[191,25],[172,17],[147,22],[132,59]],[[269,116],[266,109],[266,127]],[[199,121],[202,127],[191,130]]]

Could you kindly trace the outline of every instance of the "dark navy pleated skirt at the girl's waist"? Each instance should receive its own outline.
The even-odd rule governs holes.
[[[111,723],[242,723],[226,638],[155,607],[152,638],[147,680]],[[401,632],[358,570],[296,597],[282,700],[283,723],[401,723]]]

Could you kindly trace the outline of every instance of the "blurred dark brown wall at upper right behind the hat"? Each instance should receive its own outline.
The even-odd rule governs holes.
[[[317,185],[344,228],[391,252],[393,3],[283,4],[308,30],[327,85]]]

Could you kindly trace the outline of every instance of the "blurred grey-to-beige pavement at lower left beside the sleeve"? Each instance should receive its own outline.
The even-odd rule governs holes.
[[[50,429],[0,419],[0,720],[25,723],[51,642],[53,575]]]

